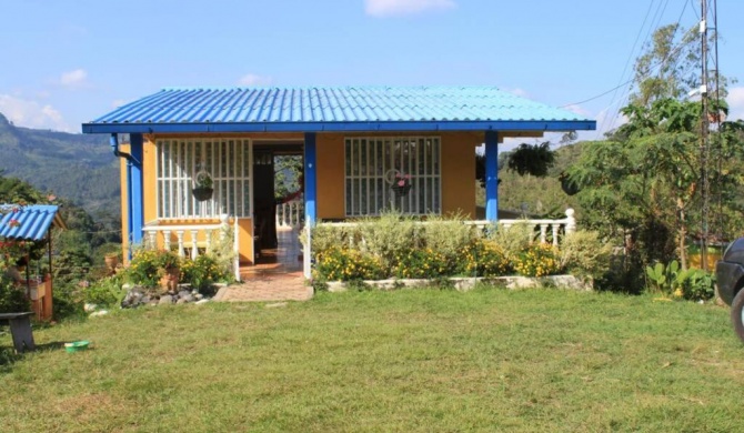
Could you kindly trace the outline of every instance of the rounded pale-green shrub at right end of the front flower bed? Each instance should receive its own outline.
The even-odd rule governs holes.
[[[569,233],[561,244],[561,268],[582,278],[595,279],[610,268],[612,245],[596,231]]]

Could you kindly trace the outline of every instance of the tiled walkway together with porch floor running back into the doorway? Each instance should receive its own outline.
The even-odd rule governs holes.
[[[278,248],[262,250],[255,265],[240,269],[243,283],[220,290],[219,301],[306,301],[312,298],[312,286],[304,285],[302,275],[302,246],[298,231],[279,229]]]

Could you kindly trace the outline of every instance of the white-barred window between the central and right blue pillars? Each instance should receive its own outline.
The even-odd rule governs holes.
[[[395,175],[410,177],[405,194],[393,191]],[[441,213],[440,138],[345,139],[346,216]]]

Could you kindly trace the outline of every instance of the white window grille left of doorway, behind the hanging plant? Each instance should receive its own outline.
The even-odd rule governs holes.
[[[252,215],[250,140],[158,140],[157,149],[158,219]],[[191,193],[200,170],[211,175],[214,189],[212,198],[204,201]]]

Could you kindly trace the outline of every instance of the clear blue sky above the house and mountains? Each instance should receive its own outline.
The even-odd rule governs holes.
[[[698,0],[3,3],[0,112],[70,132],[164,87],[257,84],[496,85],[609,129],[627,87],[576,102],[630,79],[653,28],[700,13]],[[744,1],[718,1],[721,70],[738,79],[742,16]],[[731,90],[744,117],[744,87]]]

